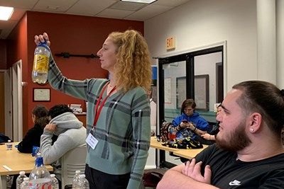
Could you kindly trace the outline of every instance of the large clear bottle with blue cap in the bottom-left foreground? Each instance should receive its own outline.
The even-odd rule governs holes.
[[[38,156],[35,159],[35,168],[31,171],[29,182],[30,189],[49,188],[51,185],[50,173],[43,165],[43,157],[40,156],[40,153],[38,153]]]

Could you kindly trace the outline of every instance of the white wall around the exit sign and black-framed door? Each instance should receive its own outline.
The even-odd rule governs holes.
[[[226,40],[224,91],[240,81],[257,79],[256,0],[192,0],[145,21],[144,27],[152,57],[178,55]],[[169,36],[175,36],[176,48],[167,52]]]

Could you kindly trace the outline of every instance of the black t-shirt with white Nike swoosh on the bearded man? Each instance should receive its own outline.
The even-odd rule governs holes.
[[[284,154],[251,162],[236,160],[236,156],[212,144],[195,158],[202,161],[202,171],[206,165],[211,167],[211,184],[216,187],[284,188]]]

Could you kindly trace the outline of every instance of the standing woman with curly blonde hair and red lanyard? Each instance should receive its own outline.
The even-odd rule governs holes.
[[[48,45],[48,35],[35,44]],[[48,81],[87,101],[86,178],[89,188],[139,188],[150,147],[152,71],[148,45],[136,30],[110,33],[97,52],[110,79],[77,81],[62,76],[50,53]]]

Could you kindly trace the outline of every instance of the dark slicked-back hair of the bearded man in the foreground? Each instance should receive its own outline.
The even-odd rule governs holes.
[[[260,113],[263,122],[275,133],[284,124],[284,90],[266,81],[244,81],[233,86],[243,93],[236,100],[244,115]]]

